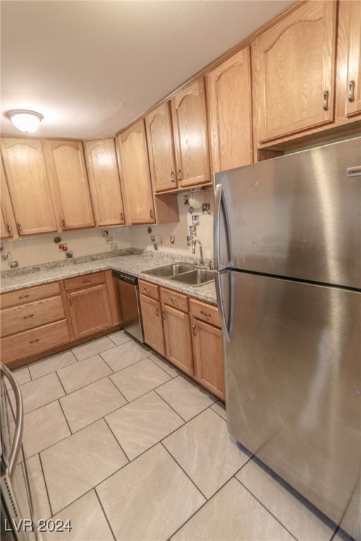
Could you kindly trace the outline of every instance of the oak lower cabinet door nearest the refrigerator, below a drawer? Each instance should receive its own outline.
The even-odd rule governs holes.
[[[192,317],[192,342],[197,380],[224,400],[224,361],[221,329]]]

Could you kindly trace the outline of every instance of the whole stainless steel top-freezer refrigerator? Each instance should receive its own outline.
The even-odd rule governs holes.
[[[214,181],[228,430],[361,541],[361,137]]]

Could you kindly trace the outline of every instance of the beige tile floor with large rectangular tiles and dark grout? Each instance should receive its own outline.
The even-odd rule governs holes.
[[[350,541],[240,448],[223,404],[117,331],[13,372],[57,541]]]

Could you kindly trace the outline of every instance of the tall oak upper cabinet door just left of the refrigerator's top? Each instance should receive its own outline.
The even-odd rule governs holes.
[[[206,75],[212,173],[252,163],[250,46]]]

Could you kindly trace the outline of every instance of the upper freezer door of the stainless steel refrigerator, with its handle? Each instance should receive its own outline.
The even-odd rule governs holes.
[[[360,137],[216,173],[214,181],[219,270],[361,288]]]

